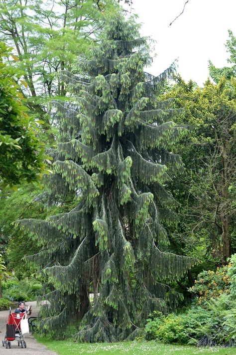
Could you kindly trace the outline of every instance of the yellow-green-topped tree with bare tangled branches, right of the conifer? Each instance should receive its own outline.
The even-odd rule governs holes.
[[[177,145],[186,175],[181,181],[173,177],[171,187],[182,203],[183,250],[192,254],[195,248],[203,260],[225,263],[235,250],[235,80],[231,89],[224,78],[217,85],[208,80],[203,89],[178,80],[167,97],[185,108],[177,122],[190,128]]]

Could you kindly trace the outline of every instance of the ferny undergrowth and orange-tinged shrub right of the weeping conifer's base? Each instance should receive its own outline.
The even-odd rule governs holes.
[[[189,291],[195,295],[190,306],[178,313],[150,315],[146,338],[197,346],[235,345],[236,254],[216,272],[201,272]]]

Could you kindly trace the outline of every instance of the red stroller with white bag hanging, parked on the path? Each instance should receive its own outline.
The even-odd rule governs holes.
[[[17,340],[18,342],[18,347],[21,346],[21,348],[26,348],[26,343],[24,340],[24,335],[21,332],[20,329],[20,321],[26,317],[26,313],[11,313],[11,310],[9,311],[8,315],[8,321],[6,325],[6,335],[4,340],[2,341],[2,346],[6,346],[6,349],[11,348],[11,342],[13,340]],[[7,327],[9,330],[9,326],[14,326],[11,327],[11,332],[7,331]],[[12,329],[14,328],[15,331],[12,332]],[[11,334],[10,334],[11,333]]]

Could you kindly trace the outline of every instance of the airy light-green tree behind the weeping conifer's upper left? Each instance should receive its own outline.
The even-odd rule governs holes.
[[[48,97],[65,95],[55,74],[74,70],[75,59],[96,39],[104,12],[116,9],[115,0],[0,1],[0,38],[15,49],[28,85],[24,94],[44,120]]]

